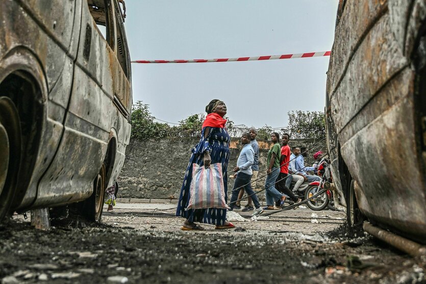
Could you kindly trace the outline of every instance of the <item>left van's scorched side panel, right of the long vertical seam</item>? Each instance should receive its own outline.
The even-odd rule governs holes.
[[[116,155],[115,163],[121,166],[128,140],[123,139],[123,133],[130,134],[129,123],[114,105],[114,94],[125,94],[121,96],[127,97],[131,104],[130,82],[114,51],[97,31],[86,1],[83,0],[82,6],[80,44],[64,138],[55,161],[40,181],[37,206],[48,204],[52,199],[65,203],[89,197],[93,179],[104,161],[111,131],[120,136],[116,139],[122,154]],[[78,167],[63,167],[69,160],[79,161]],[[115,169],[117,173],[111,176],[110,185],[121,167]],[[63,188],[67,191],[63,192]]]

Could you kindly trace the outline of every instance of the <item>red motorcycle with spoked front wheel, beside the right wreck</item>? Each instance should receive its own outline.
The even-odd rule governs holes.
[[[305,199],[311,198],[324,188],[325,182],[332,182],[331,170],[327,159],[322,159],[318,164],[318,176],[321,177],[319,182],[312,182],[305,191]],[[325,191],[319,196],[306,202],[306,205],[315,211],[325,209],[327,206],[332,206],[330,201],[333,200],[333,193],[330,190]],[[333,202],[334,203],[334,202]]]

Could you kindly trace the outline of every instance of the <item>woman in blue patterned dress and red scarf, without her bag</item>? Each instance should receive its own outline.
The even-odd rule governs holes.
[[[228,174],[227,167],[229,161],[230,136],[225,128],[227,107],[224,102],[213,99],[206,107],[206,120],[203,123],[201,139],[192,149],[191,159],[186,169],[184,182],[179,196],[176,216],[184,217],[186,220],[182,230],[204,230],[194,222],[202,222],[216,225],[216,229],[234,228],[235,226],[226,220],[227,210],[220,208],[188,209],[186,210],[190,192],[189,186],[192,179],[192,164],[199,166],[210,166],[210,164],[221,163],[223,174],[223,185],[225,191],[225,201],[228,200]]]

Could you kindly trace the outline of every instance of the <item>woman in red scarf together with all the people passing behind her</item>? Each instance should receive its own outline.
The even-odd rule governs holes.
[[[179,196],[176,215],[185,218],[185,222],[181,227],[183,230],[204,229],[204,227],[195,222],[214,224],[215,229],[235,227],[234,224],[226,219],[226,208],[187,209],[190,199],[193,163],[199,166],[204,165],[205,167],[209,167],[213,163],[221,163],[224,198],[228,200],[227,168],[230,156],[230,136],[225,128],[227,120],[223,118],[227,114],[227,107],[223,101],[213,99],[206,106],[206,112],[207,116],[202,126],[201,139],[192,149],[192,155],[185,172]],[[259,144],[256,141],[256,135],[255,128],[250,128],[247,133],[243,133],[241,136],[243,148],[237,160],[237,167],[233,169],[235,182],[229,210],[241,209],[240,200],[243,197],[244,191],[249,197],[247,205],[242,211],[254,210],[253,215],[259,215],[264,210],[274,210],[274,205],[278,208],[283,208],[287,197],[297,203],[302,201],[289,189],[291,180],[295,180],[293,190],[297,190],[305,180],[307,182],[319,180],[318,176],[307,174],[307,171],[315,170],[315,165],[314,167],[305,167],[304,157],[307,155],[306,148],[293,147],[290,150],[290,146],[288,145],[289,134],[284,133],[282,135],[281,146],[280,135],[274,132],[271,134],[273,145],[268,152],[266,163],[266,206],[264,208],[261,207],[259,199],[252,188],[252,185],[254,188],[256,187],[256,180],[259,173]],[[319,153],[315,155],[317,154]]]

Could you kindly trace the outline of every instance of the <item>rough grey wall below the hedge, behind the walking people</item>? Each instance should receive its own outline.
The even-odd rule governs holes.
[[[118,179],[120,198],[155,198],[170,199],[179,198],[182,187],[183,176],[191,156],[191,149],[199,141],[198,138],[167,138],[161,140],[138,140],[131,139],[126,149],[126,161]],[[260,140],[259,146],[259,176],[266,173],[266,160],[271,142]],[[310,147],[313,141],[292,141],[290,145]],[[228,165],[228,176],[233,174],[232,169],[236,167],[241,145],[239,139],[232,139],[230,143],[230,163]],[[322,141],[314,149],[312,154],[318,150],[325,151],[325,141]],[[228,178],[228,190],[234,184],[233,178]],[[265,179],[258,181],[257,188],[263,188]],[[260,194],[263,197],[264,194]]]

